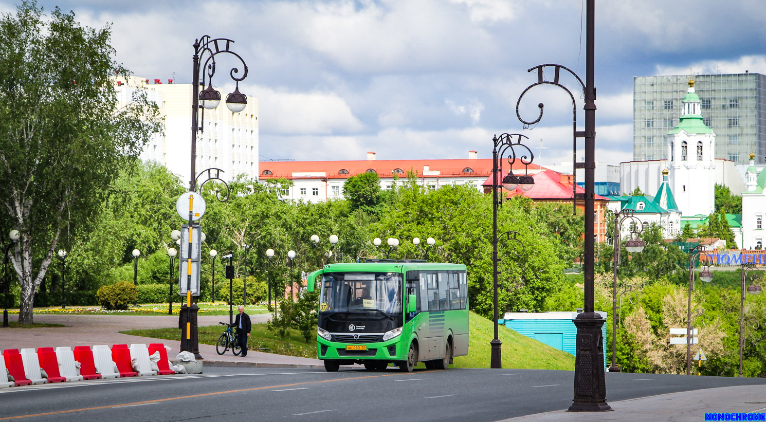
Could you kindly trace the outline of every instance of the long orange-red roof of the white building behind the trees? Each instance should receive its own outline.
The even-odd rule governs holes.
[[[423,175],[423,167],[427,165],[430,171],[439,171],[439,175]],[[473,172],[463,172],[464,168],[471,168]],[[293,172],[324,172],[329,178],[349,178],[367,172],[369,168],[375,170],[378,175],[393,175],[394,169],[401,169],[405,176],[409,170],[417,172],[419,177],[444,177],[444,176],[467,176],[467,175],[491,175],[492,159],[433,159],[433,160],[348,160],[348,161],[286,161],[286,162],[259,162],[259,178],[293,178]],[[530,172],[539,172],[539,165],[530,164]],[[349,174],[339,174],[345,169]],[[514,170],[522,171],[523,165],[516,164]],[[269,171],[271,175],[263,173]],[[322,176],[302,176],[302,178],[320,178]]]

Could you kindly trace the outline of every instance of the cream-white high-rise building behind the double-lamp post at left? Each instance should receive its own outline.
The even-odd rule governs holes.
[[[162,83],[155,79],[119,78],[117,98],[126,104],[136,90],[146,90],[155,101],[165,122],[165,133],[152,138],[144,146],[141,159],[165,165],[187,183],[191,165],[191,83]],[[219,88],[217,88],[220,90]],[[226,98],[227,93],[221,92]],[[230,181],[235,175],[258,177],[258,99],[247,97],[247,106],[240,113],[231,113],[224,101],[214,110],[200,109],[201,132],[197,132],[196,172],[206,168],[221,168],[221,175]]]

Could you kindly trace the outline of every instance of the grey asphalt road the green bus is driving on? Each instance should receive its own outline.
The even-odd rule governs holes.
[[[470,420],[565,409],[574,373],[525,369],[385,372],[205,368],[203,375],[0,390],[0,420]],[[607,373],[607,401],[764,378]],[[701,393],[702,394],[702,393]]]

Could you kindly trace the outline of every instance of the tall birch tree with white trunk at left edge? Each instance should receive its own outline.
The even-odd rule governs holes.
[[[11,263],[21,286],[19,322],[32,322],[34,292],[61,233],[93,218],[110,182],[161,130],[156,105],[136,96],[117,109],[110,28],[49,17],[34,2],[0,18],[0,214],[21,239]]]

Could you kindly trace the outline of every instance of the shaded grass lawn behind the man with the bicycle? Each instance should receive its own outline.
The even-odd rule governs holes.
[[[250,312],[248,310],[249,314]],[[228,315],[228,313],[226,314]],[[199,327],[199,342],[204,345],[215,345],[218,337],[224,332],[223,325],[209,325]],[[155,339],[181,341],[181,331],[178,329],[135,329],[121,331],[123,334],[141,335]],[[303,341],[303,336],[297,330],[291,330],[285,339],[279,339],[266,329],[266,324],[253,324],[250,330],[250,339],[247,341],[248,350],[276,353],[277,355],[300,356],[301,358],[316,358],[316,340],[309,343]],[[268,350],[267,350],[268,349]],[[229,351],[228,353],[231,353]]]

